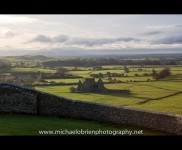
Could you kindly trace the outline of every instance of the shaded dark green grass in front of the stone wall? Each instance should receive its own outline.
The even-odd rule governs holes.
[[[134,126],[111,126],[93,121],[73,120],[47,116],[0,114],[0,136],[42,135],[39,131],[48,130],[143,130],[143,135],[167,135],[166,133],[141,129]],[[44,134],[45,135],[45,134]],[[55,134],[51,134],[55,135]]]

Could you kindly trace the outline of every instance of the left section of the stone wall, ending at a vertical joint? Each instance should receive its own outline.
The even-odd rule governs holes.
[[[0,86],[0,112],[37,113],[36,95],[9,85]]]

